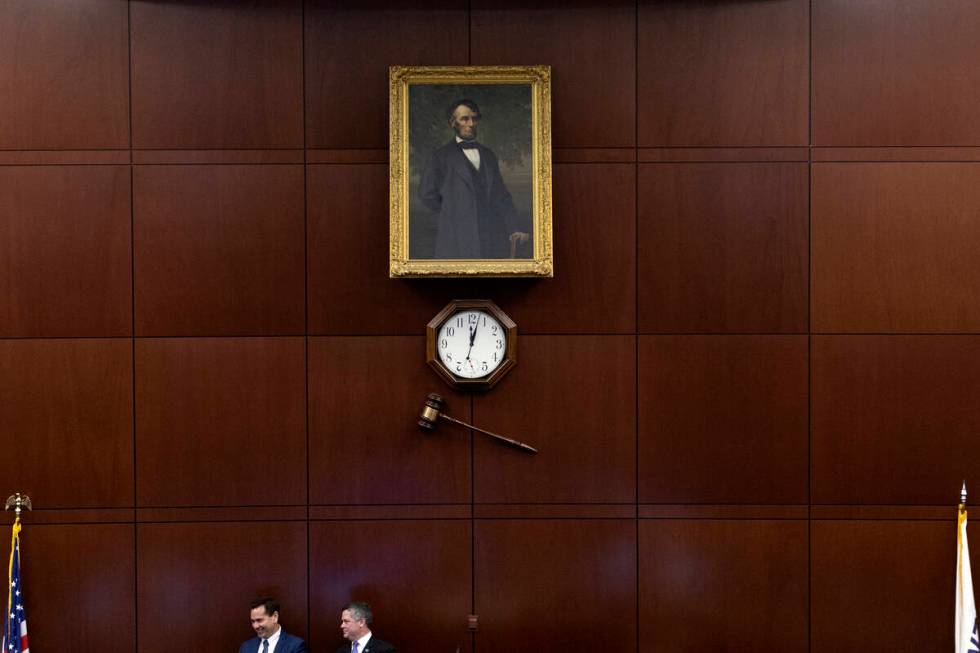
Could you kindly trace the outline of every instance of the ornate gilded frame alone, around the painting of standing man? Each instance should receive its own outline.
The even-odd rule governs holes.
[[[409,87],[414,84],[528,84],[531,90],[531,258],[412,259],[409,256]],[[389,68],[389,276],[552,277],[551,66]]]

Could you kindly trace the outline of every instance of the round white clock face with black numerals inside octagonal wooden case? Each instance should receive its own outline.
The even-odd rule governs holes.
[[[479,379],[504,362],[507,334],[490,313],[479,309],[460,311],[439,328],[436,351],[442,364],[456,376]]]

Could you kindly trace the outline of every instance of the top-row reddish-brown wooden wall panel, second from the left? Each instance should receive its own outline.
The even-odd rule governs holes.
[[[299,0],[133,0],[130,14],[134,147],[303,147]]]

